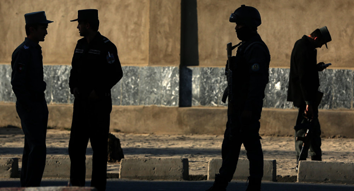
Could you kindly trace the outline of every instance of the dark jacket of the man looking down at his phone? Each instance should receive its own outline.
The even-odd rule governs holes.
[[[287,101],[295,107],[311,104],[320,86],[317,68],[317,50],[302,36],[295,42],[291,53],[290,75]]]

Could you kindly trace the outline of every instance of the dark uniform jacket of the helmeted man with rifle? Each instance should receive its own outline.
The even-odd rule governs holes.
[[[271,56],[258,34],[238,46],[233,58],[233,102],[241,110],[261,111]]]

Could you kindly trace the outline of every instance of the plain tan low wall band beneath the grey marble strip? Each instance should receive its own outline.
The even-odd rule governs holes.
[[[70,128],[72,105],[49,105],[48,126]],[[263,109],[261,135],[293,135],[297,110]],[[354,111],[320,110],[322,137],[354,138]],[[217,134],[222,135],[227,121],[227,108],[113,106],[110,130],[125,133]],[[21,126],[15,104],[0,103],[0,127]]]

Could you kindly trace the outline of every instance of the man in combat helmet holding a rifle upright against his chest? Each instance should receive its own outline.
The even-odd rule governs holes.
[[[269,81],[271,57],[267,45],[257,33],[257,27],[261,24],[257,9],[242,5],[231,14],[230,22],[236,23],[237,37],[242,42],[238,44],[236,57],[232,58],[230,66],[234,93],[228,95],[228,122],[222,145],[223,164],[208,190],[226,190],[235,173],[242,144],[249,160],[247,190],[260,190],[263,152],[258,133],[259,119],[264,89]]]

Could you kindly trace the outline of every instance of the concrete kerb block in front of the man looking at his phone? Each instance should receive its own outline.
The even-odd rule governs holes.
[[[297,181],[354,184],[354,163],[300,161]]]

